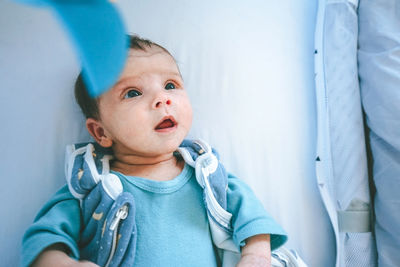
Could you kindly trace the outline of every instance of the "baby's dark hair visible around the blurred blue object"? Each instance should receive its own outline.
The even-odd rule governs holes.
[[[159,44],[156,44],[150,40],[140,38],[137,35],[128,35],[129,48],[133,50],[146,51],[152,46],[157,46],[164,50],[167,54],[171,55],[167,49]],[[172,56],[172,55],[171,55]],[[87,86],[83,81],[82,72],[79,73],[78,78],[75,82],[75,99],[86,118],[93,118],[98,120],[100,118],[98,98],[92,98],[88,94]]]

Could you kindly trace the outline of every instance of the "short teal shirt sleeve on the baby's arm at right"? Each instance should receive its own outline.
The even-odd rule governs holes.
[[[287,234],[265,211],[250,187],[231,174],[228,175],[227,198],[227,210],[232,213],[233,241],[236,246],[244,246],[246,238],[258,234],[271,236],[271,250],[286,242]]]

